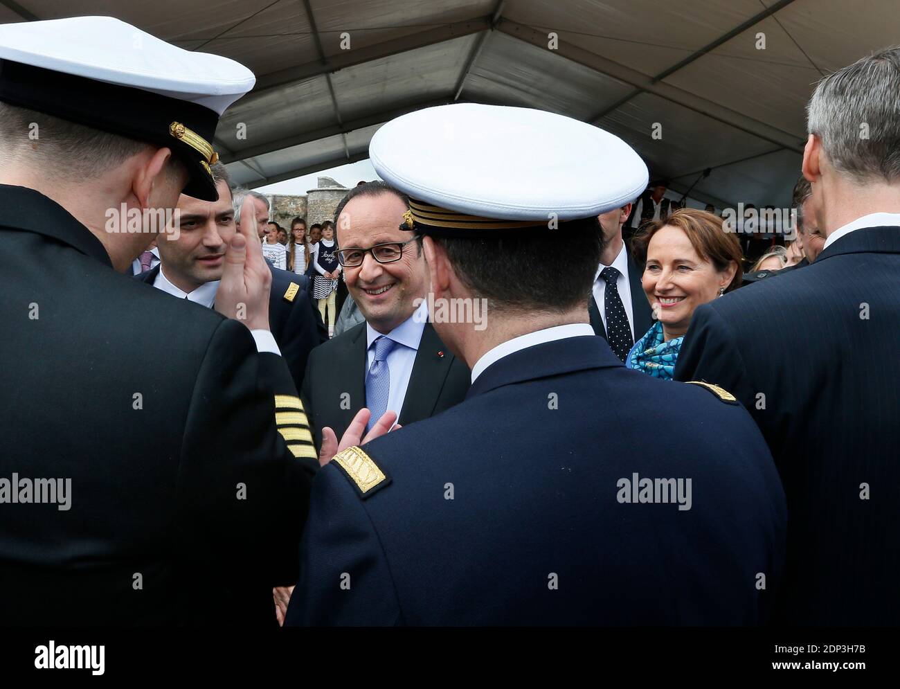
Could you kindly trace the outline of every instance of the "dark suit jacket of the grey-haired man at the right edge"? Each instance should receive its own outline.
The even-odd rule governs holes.
[[[788,494],[788,623],[900,623],[900,228],[694,313],[675,367],[753,415]],[[868,484],[869,499],[860,499]]]

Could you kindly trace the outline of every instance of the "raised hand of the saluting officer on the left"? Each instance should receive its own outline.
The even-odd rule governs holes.
[[[240,209],[240,229],[225,250],[216,311],[243,322],[251,331],[267,331],[272,272],[263,258],[255,212],[253,197],[247,195]]]

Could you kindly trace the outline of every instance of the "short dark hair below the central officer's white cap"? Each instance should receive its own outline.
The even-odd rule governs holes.
[[[457,239],[433,237],[456,275],[489,307],[501,311],[562,313],[585,305],[603,253],[597,216],[561,222],[558,242],[547,228],[509,231],[509,237]],[[554,243],[560,247],[555,254]],[[585,306],[585,316],[587,307]]]

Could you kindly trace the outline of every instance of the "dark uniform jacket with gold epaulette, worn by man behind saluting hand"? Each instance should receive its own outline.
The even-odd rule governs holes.
[[[269,327],[281,349],[284,361],[291,371],[298,390],[303,385],[303,372],[313,348],[329,339],[322,324],[319,309],[313,304],[309,289],[310,278],[269,266],[272,270],[272,290],[269,296]],[[135,276],[135,279],[153,285],[159,266]],[[288,289],[296,283],[300,290],[289,298]]]

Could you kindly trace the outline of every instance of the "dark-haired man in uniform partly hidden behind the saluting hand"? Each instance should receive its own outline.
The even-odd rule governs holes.
[[[166,233],[159,241],[159,265],[137,276],[166,294],[210,308],[215,303],[225,249],[236,231],[238,212],[232,206],[227,169],[217,163],[211,170],[219,200],[181,195],[178,231]],[[269,325],[298,390],[310,352],[328,340],[319,310],[306,289],[308,283],[305,276],[272,268]]]

